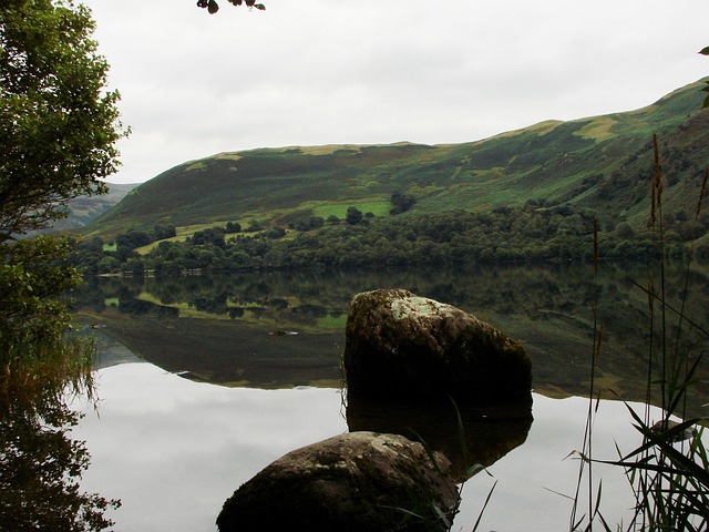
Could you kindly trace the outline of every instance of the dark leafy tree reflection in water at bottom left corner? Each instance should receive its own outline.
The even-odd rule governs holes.
[[[89,467],[83,442],[66,430],[78,413],[63,402],[45,403],[39,410],[24,403],[3,401],[0,415],[0,529],[85,531],[104,530],[107,501],[82,493],[82,472]]]

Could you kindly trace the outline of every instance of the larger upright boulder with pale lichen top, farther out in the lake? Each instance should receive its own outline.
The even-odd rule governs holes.
[[[532,362],[520,341],[459,308],[402,289],[352,298],[345,369],[350,398],[531,400]]]

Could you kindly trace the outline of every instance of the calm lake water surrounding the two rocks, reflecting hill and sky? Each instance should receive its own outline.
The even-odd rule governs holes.
[[[686,274],[682,265],[666,273],[677,308]],[[640,287],[653,275],[643,265],[604,264],[595,273],[564,264],[89,279],[76,309],[104,348],[97,407],[73,403],[84,417],[72,434],[92,457],[82,489],[122,500],[109,514],[121,532],[214,531],[234,490],[290,450],[352,427],[399,430],[411,421],[423,431],[433,427],[432,439],[444,433],[435,413],[372,417],[348,411],[343,401],[339,360],[349,301],[397,287],[476,315],[522,340],[533,361],[531,423],[465,423],[473,459],[487,468],[464,484],[452,530],[472,529],[495,482],[479,530],[568,529],[572,501],[564,495],[576,489],[573,451],[584,438],[594,323],[604,324],[594,456],[615,459],[616,444],[629,451],[640,441],[618,399],[641,410],[653,335]],[[688,278],[687,315],[706,324],[709,275],[693,266]],[[679,328],[674,318],[667,323]],[[690,326],[681,328],[691,337]],[[703,415],[706,375],[701,367],[692,413]],[[621,471],[599,466],[594,478],[603,478],[606,519],[627,520],[633,493]]]

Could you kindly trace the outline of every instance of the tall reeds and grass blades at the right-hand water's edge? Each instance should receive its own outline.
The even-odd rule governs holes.
[[[593,463],[610,463],[624,469],[635,494],[635,509],[628,531],[699,531],[709,528],[709,457],[702,439],[703,429],[698,428],[702,419],[686,419],[687,391],[695,382],[695,374],[699,367],[703,351],[693,352],[688,336],[698,335],[709,338],[707,330],[686,315],[689,294],[689,267],[693,253],[687,258],[685,283],[679,294],[679,304],[672,304],[667,294],[665,276],[666,249],[665,226],[662,216],[664,175],[657,136],[653,137],[654,176],[650,188],[650,219],[657,258],[648,268],[645,286],[635,283],[645,291],[648,300],[649,345],[647,351],[647,382],[645,408],[636,412],[629,405],[633,424],[643,436],[643,442],[633,451],[620,454],[613,461],[596,460],[592,454],[594,398],[592,368],[592,390],[587,429],[584,436],[582,464],[587,466],[588,485],[592,487]],[[696,216],[701,213],[702,198],[706,192],[709,171],[705,172],[703,182],[697,202]],[[594,309],[595,314],[595,309]],[[670,320],[674,328],[670,327]],[[674,335],[674,336],[672,336]],[[602,330],[596,336],[592,364],[599,355]],[[597,403],[597,402],[596,402]],[[659,405],[661,419],[653,423],[651,406]],[[579,470],[579,483],[584,474]],[[579,490],[576,495],[578,498]],[[590,501],[590,491],[589,491]],[[585,521],[575,519],[577,505],[572,511],[571,530],[593,530],[596,518],[604,530],[612,530],[600,516],[598,495],[589,502]],[[623,525],[618,525],[623,530]]]

